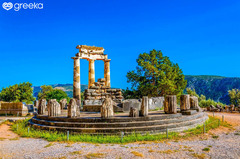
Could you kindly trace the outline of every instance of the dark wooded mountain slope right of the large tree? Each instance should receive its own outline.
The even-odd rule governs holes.
[[[240,89],[240,78],[222,76],[192,76],[186,75],[187,87],[195,89],[197,94],[229,104],[228,90]]]

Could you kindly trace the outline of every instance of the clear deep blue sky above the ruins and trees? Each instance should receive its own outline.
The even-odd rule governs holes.
[[[0,1],[0,88],[73,81],[77,45],[105,48],[111,85],[126,88],[139,53],[152,49],[187,75],[240,77],[238,0],[9,0],[43,3],[42,10],[4,10]],[[96,62],[96,79],[103,62]],[[88,62],[81,60],[81,83]]]

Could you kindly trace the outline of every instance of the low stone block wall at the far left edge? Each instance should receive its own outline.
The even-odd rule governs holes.
[[[0,102],[0,114],[6,113],[11,115],[26,116],[28,114],[28,108],[22,102]]]

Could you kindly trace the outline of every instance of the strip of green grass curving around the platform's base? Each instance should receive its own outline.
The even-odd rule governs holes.
[[[12,124],[11,129],[17,133],[21,137],[30,137],[30,138],[43,138],[49,142],[53,141],[66,141],[67,142],[67,133],[66,132],[58,132],[58,131],[47,131],[35,129],[29,126],[28,120],[19,120]],[[218,119],[214,117],[209,117],[209,119],[205,122],[205,130],[208,132],[211,129],[215,129],[218,127]],[[18,125],[18,126],[17,126]],[[221,123],[222,126],[231,126],[224,122]],[[28,132],[29,128],[29,132]],[[190,129],[184,131],[184,135],[181,135],[177,132],[169,132],[168,139],[166,134],[131,134],[126,135],[121,140],[120,135],[89,135],[89,134],[70,134],[68,142],[88,142],[88,143],[109,143],[109,144],[120,144],[120,143],[132,143],[132,142],[144,142],[144,141],[164,141],[164,140],[179,140],[188,138],[191,136],[200,135],[203,133],[203,125],[197,126],[194,129]]]

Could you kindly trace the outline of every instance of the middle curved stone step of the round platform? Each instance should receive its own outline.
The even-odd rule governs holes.
[[[114,127],[140,127],[151,125],[164,125],[170,123],[180,123],[188,120],[193,120],[202,117],[203,113],[198,113],[191,116],[179,117],[173,119],[150,120],[150,121],[132,121],[132,122],[118,122],[118,123],[80,123],[80,122],[58,122],[41,120],[32,118],[32,122],[40,125],[60,126],[60,127],[81,127],[81,128],[114,128]]]

